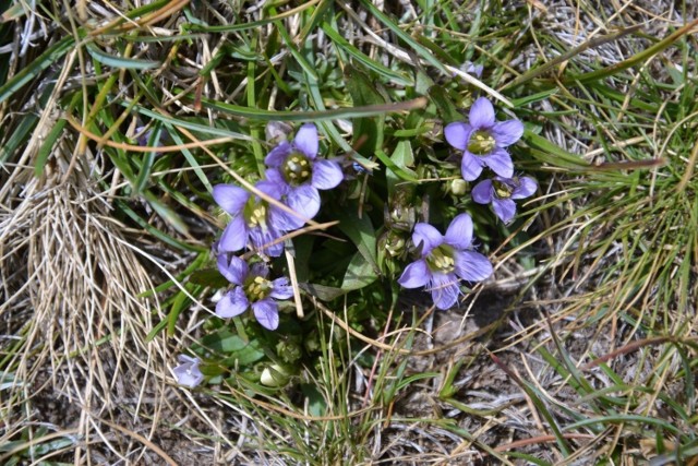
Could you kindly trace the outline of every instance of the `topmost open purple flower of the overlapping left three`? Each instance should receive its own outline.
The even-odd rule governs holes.
[[[333,189],[341,182],[344,174],[335,160],[317,158],[317,129],[305,123],[296,133],[292,143],[281,142],[264,159],[269,167],[266,177],[282,187],[286,203],[304,218],[313,218],[320,211],[317,190]],[[293,228],[300,228],[303,220],[288,215]]]

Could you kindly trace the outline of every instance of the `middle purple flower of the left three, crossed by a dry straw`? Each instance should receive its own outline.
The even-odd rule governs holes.
[[[275,200],[281,199],[282,188],[270,181],[258,181],[255,188]],[[239,251],[248,241],[257,251],[278,256],[284,252],[284,243],[270,244],[296,227],[288,222],[289,215],[257,195],[232,184],[216,184],[214,200],[232,219],[226,227],[218,250]]]

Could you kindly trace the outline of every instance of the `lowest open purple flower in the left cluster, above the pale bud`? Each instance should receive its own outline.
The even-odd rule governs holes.
[[[276,330],[279,326],[279,308],[275,299],[288,299],[293,289],[287,278],[267,279],[269,270],[262,263],[248,267],[242,259],[230,254],[218,256],[218,271],[228,282],[236,285],[216,304],[216,315],[222,319],[240,315],[252,308],[254,316],[263,327]]]

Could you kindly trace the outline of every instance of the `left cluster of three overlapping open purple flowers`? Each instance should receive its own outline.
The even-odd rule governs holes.
[[[229,319],[252,309],[262,326],[278,327],[275,300],[293,295],[288,279],[269,280],[266,265],[258,262],[248,266],[232,253],[250,248],[276,258],[284,252],[281,237],[317,215],[318,190],[333,189],[344,179],[336,160],[317,157],[318,145],[317,129],[306,123],[292,143],[284,141],[274,147],[264,160],[265,179],[255,184],[264,198],[232,184],[214,187],[214,200],[231,216],[215,248],[218,270],[233,285],[216,304],[218,316]]]

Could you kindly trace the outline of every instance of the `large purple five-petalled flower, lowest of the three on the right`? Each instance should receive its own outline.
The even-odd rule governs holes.
[[[409,264],[398,283],[405,288],[426,285],[438,309],[458,301],[460,279],[481,282],[492,275],[492,264],[472,251],[472,219],[460,214],[453,219],[446,235],[429,224],[414,225],[412,242],[421,248],[421,259]]]

